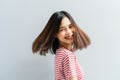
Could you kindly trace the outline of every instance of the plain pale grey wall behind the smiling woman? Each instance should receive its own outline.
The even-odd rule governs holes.
[[[120,0],[0,0],[0,80],[54,80],[54,55],[32,42],[55,11],[69,12],[92,44],[75,54],[85,80],[120,80]]]

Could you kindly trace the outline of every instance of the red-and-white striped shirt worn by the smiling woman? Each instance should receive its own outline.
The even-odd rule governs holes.
[[[84,80],[83,70],[75,54],[61,47],[55,55],[55,80],[69,80],[72,76],[77,77],[77,80]]]

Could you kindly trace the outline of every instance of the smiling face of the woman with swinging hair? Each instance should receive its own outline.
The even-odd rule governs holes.
[[[60,45],[72,45],[74,41],[74,31],[75,28],[70,20],[67,17],[64,17],[57,33],[57,38],[60,42]]]

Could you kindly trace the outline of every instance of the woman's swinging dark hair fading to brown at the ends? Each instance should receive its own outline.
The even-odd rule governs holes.
[[[48,51],[52,54],[56,53],[56,50],[59,47],[59,42],[55,35],[57,34],[61,21],[64,17],[67,17],[75,27],[73,49],[83,49],[90,44],[89,37],[78,27],[72,16],[66,11],[58,11],[52,14],[43,31],[33,42],[33,53],[39,52],[40,55],[46,55]]]

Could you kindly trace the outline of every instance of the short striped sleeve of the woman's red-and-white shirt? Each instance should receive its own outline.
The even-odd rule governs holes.
[[[66,80],[69,80],[72,76],[77,76],[75,56],[73,54],[67,54],[63,59],[63,72]]]

